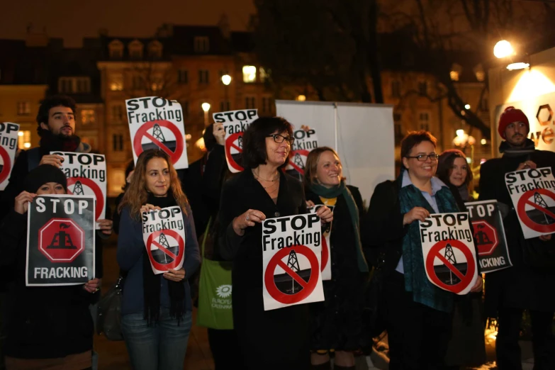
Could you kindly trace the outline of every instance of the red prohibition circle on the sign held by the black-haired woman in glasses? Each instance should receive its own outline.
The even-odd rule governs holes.
[[[310,278],[308,279],[306,286],[304,286],[301,291],[295,294],[286,294],[282,293],[277,288],[276,282],[274,281],[274,271],[276,270],[279,261],[281,261],[282,258],[286,257],[286,255],[289,254],[291,250],[294,250],[296,253],[303,254],[303,256],[308,258],[308,262],[310,262]],[[266,286],[266,289],[271,298],[274,298],[280,303],[288,305],[298,303],[306,297],[310,296],[310,293],[314,291],[314,288],[316,288],[316,284],[318,284],[318,276],[320,276],[320,269],[318,269],[318,258],[316,257],[316,254],[305,245],[293,245],[291,247],[280,250],[279,252],[274,254],[274,257],[271,257],[270,262],[266,267],[266,273],[264,274],[264,285]]]

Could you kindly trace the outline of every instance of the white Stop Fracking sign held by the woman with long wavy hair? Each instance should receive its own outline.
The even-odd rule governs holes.
[[[142,240],[155,274],[179,270],[185,260],[185,225],[179,206],[142,213]]]

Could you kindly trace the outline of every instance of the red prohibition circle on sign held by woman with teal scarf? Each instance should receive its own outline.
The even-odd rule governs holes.
[[[464,257],[466,257],[466,275],[463,276],[463,279],[461,279],[459,283],[454,285],[445,284],[443,281],[439,280],[434,270],[434,259],[438,256],[443,257],[442,254],[439,253],[439,251],[444,249],[447,244],[450,244],[452,247],[461,250],[461,252],[463,252],[464,254]],[[447,268],[452,270],[449,266],[447,266]],[[428,272],[428,276],[430,276],[430,280],[432,280],[434,284],[439,286],[439,288],[445,289],[446,291],[452,291],[453,293],[461,293],[461,291],[464,291],[464,289],[468,288],[468,286],[472,282],[475,269],[476,264],[474,264],[474,258],[470,248],[467,247],[460,240],[449,239],[437,242],[432,248],[430,248],[430,251],[428,252],[428,255],[426,257],[426,270]]]

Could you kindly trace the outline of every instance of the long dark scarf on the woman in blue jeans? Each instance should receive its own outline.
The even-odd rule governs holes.
[[[165,196],[163,198],[156,197],[149,193],[147,203],[152,204],[152,206],[158,206],[160,208],[167,208],[177,205],[171,193],[168,193],[168,196]],[[157,322],[159,319],[160,279],[163,279],[162,274],[155,275],[152,272],[150,259],[148,259],[147,250],[145,248],[144,250],[142,250],[142,289],[145,295],[145,320],[147,320],[148,325]],[[181,323],[181,320],[183,320],[183,315],[185,312],[184,280],[179,282],[168,280],[167,283],[170,301],[169,315],[172,318],[177,318],[177,324],[179,325],[179,323]]]

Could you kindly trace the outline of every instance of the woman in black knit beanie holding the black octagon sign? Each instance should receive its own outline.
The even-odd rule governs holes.
[[[29,172],[25,191],[0,226],[0,266],[13,269],[4,320],[6,369],[91,369],[93,322],[89,312],[99,279],[84,285],[26,286],[27,211],[40,195],[67,194],[65,174],[50,164]],[[36,248],[37,246],[30,246]]]

